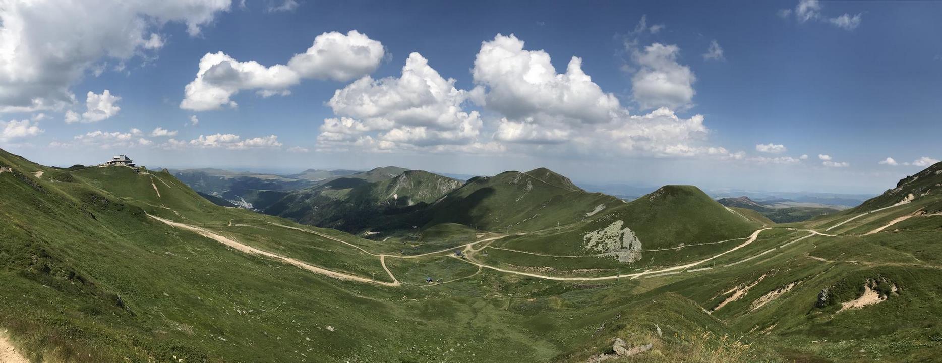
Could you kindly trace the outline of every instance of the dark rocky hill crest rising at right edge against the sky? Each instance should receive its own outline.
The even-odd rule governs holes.
[[[885,206],[893,206],[906,200],[918,201],[920,198],[942,198],[942,162],[925,170],[902,178],[896,188],[886,190],[860,206],[849,209],[847,213],[861,213]]]

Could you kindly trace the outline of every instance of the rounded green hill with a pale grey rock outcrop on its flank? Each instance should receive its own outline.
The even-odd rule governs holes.
[[[511,253],[491,253],[489,260],[511,267],[554,266],[560,272],[640,272],[715,255],[763,225],[696,187],[665,186],[630,203],[600,208],[578,223],[495,241],[492,246]]]

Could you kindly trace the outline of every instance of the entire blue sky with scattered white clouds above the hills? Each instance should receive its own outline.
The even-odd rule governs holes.
[[[942,158],[938,2],[9,3],[0,147],[44,164],[878,192]]]

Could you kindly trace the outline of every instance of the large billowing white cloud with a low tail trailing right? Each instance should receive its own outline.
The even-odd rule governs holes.
[[[646,31],[644,21],[638,31]],[[606,149],[664,157],[731,154],[698,144],[707,134],[703,116],[680,118],[668,107],[630,115],[614,94],[582,71],[581,58],[570,58],[561,74],[550,60],[542,50],[525,49],[524,41],[512,35],[498,34],[481,43],[472,70],[478,86],[471,96],[503,116],[496,124],[496,141],[567,143],[585,152]]]

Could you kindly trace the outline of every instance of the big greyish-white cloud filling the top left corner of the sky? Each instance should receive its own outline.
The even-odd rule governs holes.
[[[0,2],[0,112],[61,109],[70,88],[103,58],[119,62],[163,46],[168,23],[203,25],[230,0],[35,0]]]

